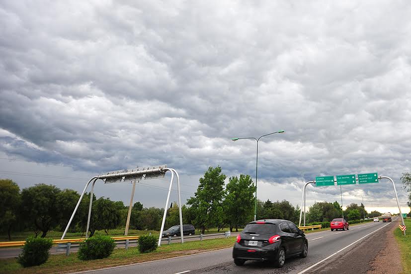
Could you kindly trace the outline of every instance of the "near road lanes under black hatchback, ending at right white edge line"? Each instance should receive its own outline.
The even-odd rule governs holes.
[[[313,265],[321,262],[332,254],[329,260],[335,260],[345,252],[360,244],[364,239],[369,237],[378,237],[390,226],[397,225],[393,223],[365,223],[351,226],[346,231],[322,231],[307,234],[309,240],[309,255],[305,259],[289,258],[286,260],[284,267],[276,269],[270,262],[253,262],[247,261],[243,267],[235,266],[232,259],[232,248],[214,251],[204,254],[191,255],[186,257],[167,259],[157,262],[148,262],[126,267],[117,267],[92,273],[123,273],[123,274],[176,274],[176,273],[300,273]],[[378,239],[377,239],[378,240]],[[234,237],[233,237],[234,241]],[[345,248],[345,249],[343,249]],[[343,250],[341,250],[343,249]],[[317,265],[318,268],[320,265]],[[309,272],[309,270],[308,270]],[[91,273],[91,272],[88,272]]]

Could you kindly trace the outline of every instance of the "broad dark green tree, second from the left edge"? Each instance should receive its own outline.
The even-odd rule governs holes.
[[[57,195],[61,192],[55,185],[36,184],[21,191],[21,213],[26,223],[36,233],[41,231],[44,238],[47,232],[59,223]]]

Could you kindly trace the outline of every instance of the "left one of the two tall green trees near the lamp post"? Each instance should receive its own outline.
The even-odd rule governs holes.
[[[204,233],[208,227],[218,225],[223,219],[222,199],[226,178],[221,173],[220,167],[209,167],[204,177],[200,178],[194,197],[190,197],[187,201],[195,212],[194,223],[201,228],[201,233]]]

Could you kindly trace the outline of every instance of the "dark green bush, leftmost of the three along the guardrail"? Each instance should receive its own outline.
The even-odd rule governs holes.
[[[23,246],[23,252],[18,256],[18,263],[24,268],[40,266],[47,262],[53,246],[52,239],[29,237]]]

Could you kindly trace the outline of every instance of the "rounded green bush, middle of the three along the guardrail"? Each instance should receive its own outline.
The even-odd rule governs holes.
[[[107,258],[115,247],[116,243],[110,236],[96,235],[80,244],[77,257],[82,261]]]

